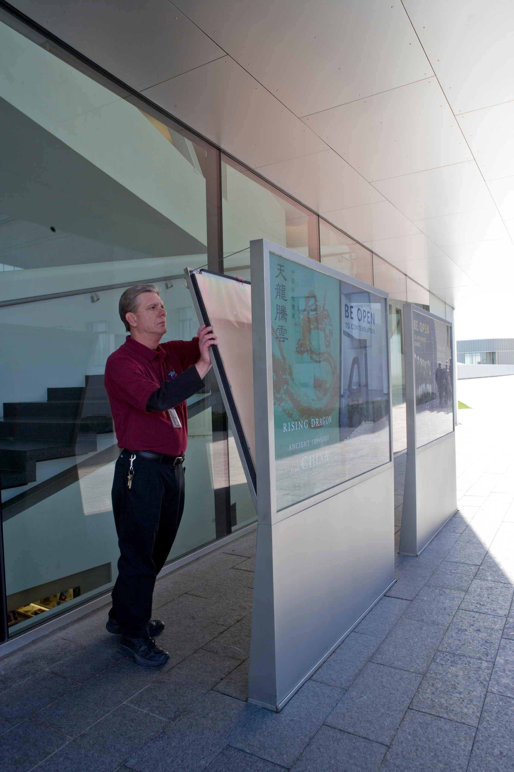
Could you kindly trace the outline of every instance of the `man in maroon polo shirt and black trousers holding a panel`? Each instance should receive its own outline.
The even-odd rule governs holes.
[[[169,659],[154,636],[163,622],[151,620],[156,576],[170,553],[184,505],[183,460],[187,445],[186,399],[203,388],[210,369],[212,327],[190,341],[170,340],[166,311],[153,284],[129,287],[119,299],[129,336],[107,360],[105,384],[118,445],[123,448],[113,479],[118,533],[118,578],[106,628],[123,635],[123,651],[140,665]]]

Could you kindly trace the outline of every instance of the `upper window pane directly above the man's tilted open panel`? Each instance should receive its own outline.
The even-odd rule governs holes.
[[[319,262],[317,215],[222,156],[225,273],[250,279],[250,241],[269,239]]]

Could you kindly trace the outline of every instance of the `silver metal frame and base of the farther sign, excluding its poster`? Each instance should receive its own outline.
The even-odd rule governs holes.
[[[452,432],[448,432],[425,445],[417,446],[415,350],[413,338],[413,313],[447,325],[452,330]],[[405,464],[405,488],[401,512],[400,552],[419,555],[438,534],[457,510],[457,473],[455,460],[455,341],[453,323],[435,313],[405,303],[404,350],[405,350],[405,399],[407,411],[407,461]],[[436,483],[436,484],[435,484]]]

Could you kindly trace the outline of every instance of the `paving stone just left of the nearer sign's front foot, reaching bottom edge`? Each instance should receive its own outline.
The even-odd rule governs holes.
[[[200,772],[237,733],[245,717],[259,710],[240,699],[208,692],[154,740],[139,748],[126,761],[126,767],[138,772]]]

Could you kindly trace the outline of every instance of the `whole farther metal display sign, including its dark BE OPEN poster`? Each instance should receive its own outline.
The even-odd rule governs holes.
[[[407,463],[400,552],[418,555],[457,509],[452,323],[405,303]]]

